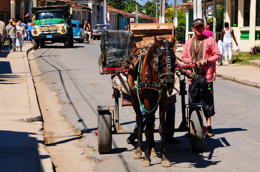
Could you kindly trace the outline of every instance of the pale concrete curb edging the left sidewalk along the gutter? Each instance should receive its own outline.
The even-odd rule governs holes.
[[[30,121],[41,121],[41,125],[43,128],[43,122],[42,122],[42,114],[39,108],[38,104],[38,99],[37,99],[37,94],[36,94],[36,89],[34,86],[34,81],[33,81],[33,76],[31,74],[31,69],[29,66],[29,60],[28,60],[28,53],[33,50],[33,47],[29,48],[26,52],[24,52],[24,66],[25,66],[25,73],[26,73],[26,80],[27,80],[27,85],[28,85],[28,92],[29,92],[29,98],[30,98],[30,104],[31,108],[33,110],[33,113],[36,114],[36,117],[33,119],[30,119]],[[38,153],[39,153],[39,164],[41,166],[40,172],[53,172],[53,164],[51,161],[51,157],[49,152],[45,149],[44,145],[44,134],[43,134],[43,139],[39,140],[38,144]],[[41,158],[42,156],[47,156],[46,158]]]

